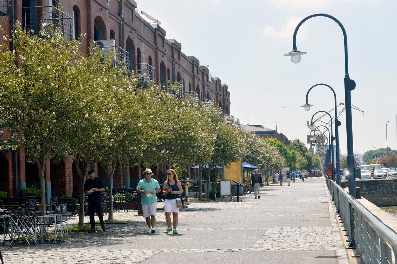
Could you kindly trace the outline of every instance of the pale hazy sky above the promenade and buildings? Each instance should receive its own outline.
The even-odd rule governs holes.
[[[326,17],[306,21],[297,47],[308,52],[299,64],[283,56],[292,50],[296,25],[313,13],[328,13],[344,25],[349,50],[349,74],[357,86],[351,92],[354,152],[386,147],[397,149],[395,0],[137,0],[138,10],[159,19],[167,39],[182,44],[182,52],[209,66],[212,76],[227,84],[231,114],[242,124],[264,125],[290,140],[306,142],[306,122],[334,106],[333,94],[314,84],[333,87],[337,103],[345,102],[344,46],[340,27]],[[281,106],[287,106],[281,108]],[[332,114],[333,115],[333,114]],[[339,116],[341,154],[347,154],[345,112]]]

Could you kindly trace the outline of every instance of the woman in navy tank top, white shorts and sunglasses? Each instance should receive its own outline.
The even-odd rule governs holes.
[[[167,229],[164,233],[168,234],[172,231],[171,228],[171,213],[173,223],[173,234],[177,235],[176,227],[178,225],[178,212],[177,200],[180,201],[179,195],[182,193],[181,182],[178,181],[176,172],[172,169],[167,171],[167,181],[164,182],[163,195],[166,196],[164,202],[164,212],[166,213]]]

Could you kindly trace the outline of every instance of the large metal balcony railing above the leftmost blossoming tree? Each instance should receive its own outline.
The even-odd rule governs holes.
[[[39,34],[40,29],[50,27],[62,30],[65,39],[73,38],[72,18],[55,6],[30,6],[22,8],[22,27]]]

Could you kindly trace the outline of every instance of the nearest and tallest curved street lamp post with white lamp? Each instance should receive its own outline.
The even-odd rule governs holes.
[[[355,179],[355,162],[354,162],[354,154],[353,154],[353,123],[351,117],[351,91],[356,88],[356,83],[349,77],[349,63],[348,63],[348,56],[347,56],[347,35],[345,27],[343,27],[342,23],[336,19],[335,17],[324,14],[318,13],[309,15],[302,19],[301,22],[297,25],[294,31],[293,39],[292,39],[292,51],[284,56],[291,56],[291,61],[293,63],[298,63],[301,61],[301,55],[306,54],[307,52],[301,52],[297,49],[296,45],[296,36],[299,30],[299,27],[308,19],[312,17],[328,17],[335,21],[339,27],[342,29],[343,33],[343,42],[345,46],[345,110],[346,110],[346,136],[347,136],[347,170],[349,175],[353,175],[353,177],[349,177],[349,193],[356,198],[356,179]]]

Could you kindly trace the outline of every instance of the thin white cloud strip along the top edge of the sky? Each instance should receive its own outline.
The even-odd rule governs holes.
[[[324,8],[339,4],[376,4],[383,0],[264,0],[265,3],[274,6],[289,8]]]

